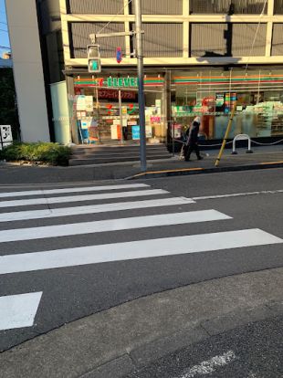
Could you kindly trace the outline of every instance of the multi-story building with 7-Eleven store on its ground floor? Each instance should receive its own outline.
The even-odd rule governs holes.
[[[282,137],[283,0],[141,1],[148,142],[165,142],[172,125],[178,138],[195,114],[203,139],[219,140],[235,101],[230,137]],[[49,124],[58,142],[81,141],[89,126],[93,141],[137,141],[135,37],[97,40],[100,74],[89,74],[87,60],[89,35],[135,29],[134,5],[6,0],[26,138],[48,139]]]

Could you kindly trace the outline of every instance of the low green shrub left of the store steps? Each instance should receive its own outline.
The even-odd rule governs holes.
[[[71,149],[58,143],[14,143],[0,151],[0,160],[68,165]]]

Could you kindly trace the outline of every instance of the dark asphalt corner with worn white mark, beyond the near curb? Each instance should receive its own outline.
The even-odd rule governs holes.
[[[281,378],[283,318],[226,331],[127,378]]]

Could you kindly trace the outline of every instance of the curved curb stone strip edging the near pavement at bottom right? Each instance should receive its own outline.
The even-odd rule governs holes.
[[[183,331],[145,343],[142,347],[106,362],[95,370],[80,375],[78,378],[130,378],[131,373],[145,368],[167,354],[180,351],[225,331],[236,330],[247,324],[276,318],[282,314],[283,302],[271,301],[256,308],[239,310],[225,316],[204,320]]]

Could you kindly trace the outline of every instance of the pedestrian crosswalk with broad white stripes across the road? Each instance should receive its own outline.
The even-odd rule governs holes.
[[[90,185],[0,193],[0,280],[6,275],[44,270],[48,275],[48,269],[283,242],[278,236],[258,228],[225,230],[225,222],[232,219],[230,215],[215,209],[195,210],[192,205],[195,201],[191,198],[174,197],[148,184]],[[55,223],[50,224],[50,220]],[[189,225],[204,222],[220,222],[221,231],[190,235]],[[162,234],[168,226],[182,225],[186,230],[182,236]],[[147,236],[149,230],[154,231],[154,237]],[[130,241],[120,239],[119,232],[128,236],[130,231],[137,232],[132,234]],[[111,233],[115,233],[114,238]],[[109,236],[109,242],[100,243],[102,234]],[[60,247],[59,238],[64,240],[75,236],[83,240],[82,245],[76,243],[75,246]],[[85,240],[86,236],[97,236],[96,243],[92,243],[92,239]],[[53,243],[54,240],[58,242],[58,248],[47,247],[48,241]],[[30,250],[26,244],[21,250],[23,242],[33,241],[38,244],[33,244]],[[2,289],[1,295],[0,331],[34,325],[44,289],[13,293],[11,289],[6,293]]]

